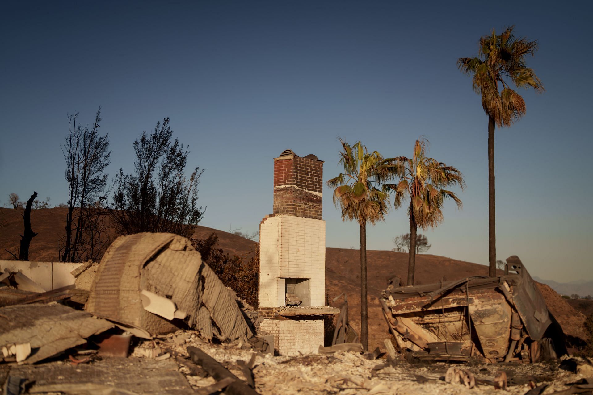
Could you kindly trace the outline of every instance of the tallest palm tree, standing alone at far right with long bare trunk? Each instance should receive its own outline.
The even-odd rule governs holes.
[[[488,260],[489,275],[496,275],[496,226],[494,191],[494,130],[511,126],[525,114],[525,101],[511,89],[508,81],[518,88],[533,88],[543,92],[544,86],[533,69],[525,64],[525,57],[537,50],[537,41],[515,38],[514,26],[496,35],[480,38],[477,57],[460,57],[457,65],[473,75],[473,88],[482,95],[482,107],[488,115]],[[502,88],[502,89],[501,89]],[[500,90],[499,90],[500,89]]]

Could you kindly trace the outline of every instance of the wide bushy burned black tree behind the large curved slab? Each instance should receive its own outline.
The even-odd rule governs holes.
[[[110,214],[120,235],[139,232],[170,232],[190,236],[205,210],[197,207],[197,185],[203,170],[196,167],[186,176],[189,149],[177,139],[169,118],[157,123],[154,133],[142,133],[133,144],[136,153],[133,174],[122,169],[113,182]]]

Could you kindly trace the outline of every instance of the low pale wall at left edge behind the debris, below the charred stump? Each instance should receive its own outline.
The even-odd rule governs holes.
[[[0,272],[21,272],[46,291],[74,284],[71,271],[82,264],[74,262],[0,261]]]

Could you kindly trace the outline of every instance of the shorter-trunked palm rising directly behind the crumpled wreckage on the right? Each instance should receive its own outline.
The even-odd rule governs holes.
[[[408,260],[407,285],[414,285],[416,265],[416,230],[418,227],[436,227],[443,220],[441,211],[445,198],[451,198],[461,208],[461,200],[455,192],[446,187],[459,185],[463,191],[466,183],[463,175],[456,168],[447,166],[432,158],[426,158],[428,140],[416,140],[412,158],[397,156],[385,159],[387,171],[400,174],[397,186],[386,184],[395,191],[394,207],[401,207],[406,198],[410,198],[408,216],[410,217],[410,252]]]

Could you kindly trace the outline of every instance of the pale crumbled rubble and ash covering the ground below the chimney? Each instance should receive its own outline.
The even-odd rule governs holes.
[[[362,352],[337,351],[331,355],[311,354],[299,357],[264,355],[251,349],[248,343],[213,344],[205,342],[196,331],[179,331],[155,341],[142,341],[138,348],[158,349],[162,358],[184,361],[188,347],[202,349],[241,380],[247,380],[242,366],[254,357],[255,390],[260,394],[491,394],[495,379],[501,371],[508,377],[508,394],[525,394],[541,384],[548,384],[544,394],[566,390],[566,384],[588,377],[576,373],[588,366],[577,358],[564,358],[535,364],[478,364],[451,365],[445,362],[423,363],[382,355],[367,359]],[[136,351],[133,355],[136,355]],[[571,370],[561,368],[565,361],[575,362]],[[475,361],[474,361],[475,362]],[[475,386],[447,383],[445,377],[452,366],[463,368],[473,375]],[[180,363],[180,371],[194,388],[208,387],[216,380],[192,372]]]

